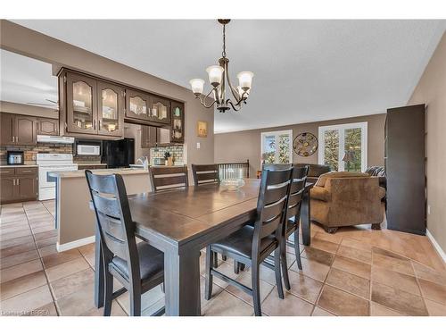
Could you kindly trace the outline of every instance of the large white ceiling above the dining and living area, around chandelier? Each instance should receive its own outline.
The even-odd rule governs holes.
[[[206,79],[205,68],[221,54],[221,27],[213,20],[15,22],[186,88],[192,78]],[[248,105],[239,113],[216,113],[215,131],[384,113],[405,105],[445,22],[231,21],[231,78],[238,71],[255,76]]]

